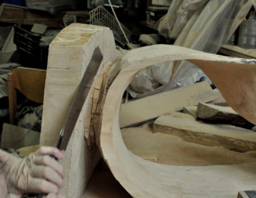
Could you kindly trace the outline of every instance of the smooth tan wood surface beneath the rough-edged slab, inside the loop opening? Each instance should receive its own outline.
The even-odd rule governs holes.
[[[232,165],[256,161],[256,151],[235,152],[222,146],[186,142],[177,135],[154,133],[151,124],[122,129],[121,132],[130,152],[143,159],[147,158],[143,153],[154,154],[157,162],[165,165]]]

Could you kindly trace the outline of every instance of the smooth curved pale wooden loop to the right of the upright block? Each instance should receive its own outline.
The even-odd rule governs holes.
[[[123,69],[106,93],[102,110],[100,148],[113,175],[133,197],[226,198],[236,197],[238,191],[255,189],[256,163],[205,167],[161,165],[135,156],[124,145],[119,108],[126,87],[141,69],[176,60],[190,61],[200,67],[231,107],[256,124],[256,60],[167,45],[130,50],[121,60]]]

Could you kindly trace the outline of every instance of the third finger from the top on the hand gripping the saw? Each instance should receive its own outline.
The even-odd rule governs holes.
[[[52,182],[59,188],[62,187],[63,177],[61,177],[55,170],[51,167],[46,167],[44,165],[36,166],[31,168],[32,178],[42,178]]]

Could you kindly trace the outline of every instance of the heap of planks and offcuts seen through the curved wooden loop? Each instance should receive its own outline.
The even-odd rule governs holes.
[[[256,161],[254,125],[231,107],[218,105],[207,82],[152,97],[121,105],[120,126],[137,125],[122,129],[124,143],[133,154],[167,165]]]

